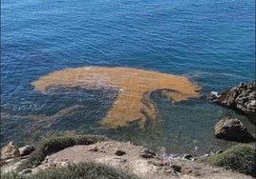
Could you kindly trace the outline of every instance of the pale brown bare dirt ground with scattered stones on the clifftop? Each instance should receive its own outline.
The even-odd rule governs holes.
[[[244,179],[245,174],[215,168],[203,163],[180,157],[163,158],[141,146],[129,142],[100,142],[89,146],[74,146],[47,156],[45,161],[33,171],[64,167],[72,163],[94,162],[115,169],[123,169],[146,179],[211,178]]]

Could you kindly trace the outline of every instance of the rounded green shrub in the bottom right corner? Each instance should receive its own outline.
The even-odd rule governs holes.
[[[256,171],[256,149],[250,145],[239,144],[226,149],[223,153],[209,156],[205,161],[225,169],[254,174]]]

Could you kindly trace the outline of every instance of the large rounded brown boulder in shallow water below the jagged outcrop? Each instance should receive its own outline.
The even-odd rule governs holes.
[[[253,142],[255,138],[247,131],[238,119],[226,118],[215,125],[215,136],[220,139],[236,142]]]

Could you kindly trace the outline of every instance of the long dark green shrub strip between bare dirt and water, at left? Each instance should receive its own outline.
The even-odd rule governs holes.
[[[75,145],[91,145],[96,142],[108,140],[106,137],[98,135],[75,135],[75,136],[51,136],[39,142],[36,150],[17,170],[30,169],[38,166],[47,155],[66,149]]]

